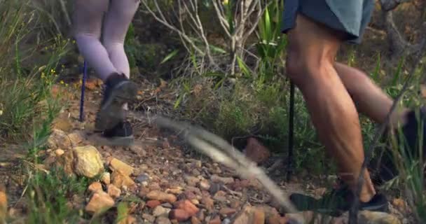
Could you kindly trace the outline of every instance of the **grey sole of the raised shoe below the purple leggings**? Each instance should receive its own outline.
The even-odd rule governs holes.
[[[137,94],[137,85],[131,81],[125,81],[111,90],[111,96],[102,105],[97,113],[95,131],[102,132],[115,127],[125,120],[123,104],[131,102]]]

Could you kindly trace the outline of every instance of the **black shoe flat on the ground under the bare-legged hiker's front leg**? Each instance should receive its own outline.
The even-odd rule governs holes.
[[[341,216],[349,211],[354,202],[353,193],[346,187],[333,189],[320,199],[303,194],[292,194],[290,200],[299,211],[314,211],[329,216]],[[369,202],[359,202],[359,210],[387,211],[387,199],[384,195],[376,194]]]

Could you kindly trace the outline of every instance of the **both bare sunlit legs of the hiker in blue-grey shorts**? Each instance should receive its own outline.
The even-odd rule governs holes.
[[[287,74],[301,90],[312,123],[327,153],[336,161],[339,176],[352,191],[364,161],[359,115],[383,123],[392,99],[362,71],[335,61],[343,34],[299,14],[287,33]],[[404,123],[406,109],[393,113],[391,125]],[[376,194],[369,172],[364,172],[360,194],[368,202]]]

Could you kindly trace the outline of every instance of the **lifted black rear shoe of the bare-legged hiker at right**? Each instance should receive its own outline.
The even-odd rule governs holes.
[[[404,151],[400,150],[399,153],[405,153],[406,156],[404,157],[408,157],[411,161],[420,159],[419,139],[422,139],[422,162],[424,162],[426,153],[426,107],[410,111],[407,114],[406,124],[400,130],[394,132],[398,146],[404,148]],[[401,142],[400,135],[404,138]],[[394,162],[392,148],[385,148],[381,158],[375,158],[371,161],[369,169],[373,181],[378,185],[398,176],[399,172]]]

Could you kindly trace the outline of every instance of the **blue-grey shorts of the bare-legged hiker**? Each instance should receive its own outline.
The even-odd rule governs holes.
[[[301,13],[347,34],[346,41],[361,43],[373,10],[374,0],[284,0],[282,32],[293,29],[296,15]]]

